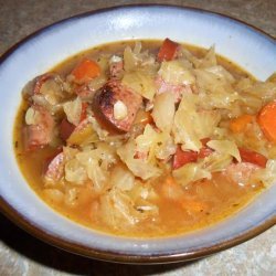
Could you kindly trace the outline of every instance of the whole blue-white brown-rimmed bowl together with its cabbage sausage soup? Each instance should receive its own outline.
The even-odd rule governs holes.
[[[276,45],[169,6],[85,13],[0,64],[1,211],[123,263],[193,259],[275,224]]]

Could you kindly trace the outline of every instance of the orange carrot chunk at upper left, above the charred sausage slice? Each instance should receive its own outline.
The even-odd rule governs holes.
[[[71,72],[75,77],[76,83],[87,82],[100,74],[100,67],[92,60],[84,59]]]

